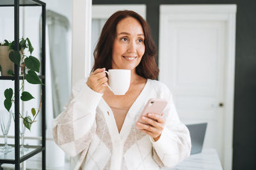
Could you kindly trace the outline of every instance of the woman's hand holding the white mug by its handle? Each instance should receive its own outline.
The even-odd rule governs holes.
[[[104,93],[106,87],[108,87],[108,78],[106,77],[105,68],[93,71],[88,77],[86,84],[95,92]]]

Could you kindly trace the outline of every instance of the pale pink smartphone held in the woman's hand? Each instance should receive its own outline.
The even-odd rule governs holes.
[[[148,113],[157,113],[161,115],[167,104],[168,102],[166,101],[166,99],[149,99],[141,115],[146,117]],[[143,120],[140,120],[140,122],[143,124],[147,124],[146,122],[143,122]]]

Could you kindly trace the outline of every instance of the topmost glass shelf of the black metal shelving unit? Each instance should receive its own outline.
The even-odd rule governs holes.
[[[45,6],[45,3],[38,0],[20,0],[20,6]],[[14,6],[14,0],[1,0],[0,6]]]

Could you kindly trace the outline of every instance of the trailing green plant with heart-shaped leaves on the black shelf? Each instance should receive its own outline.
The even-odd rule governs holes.
[[[21,101],[29,101],[31,99],[35,99],[28,91],[24,91],[24,81],[28,81],[28,83],[31,84],[41,84],[42,82],[38,75],[36,74],[40,72],[40,61],[36,59],[36,57],[32,56],[32,52],[34,50],[33,46],[31,45],[31,42],[29,38],[21,38],[19,41],[19,52],[17,50],[14,50],[14,41],[10,42],[6,39],[4,40],[4,43],[1,43],[0,46],[8,46],[6,50],[8,52],[8,58],[13,63],[13,66],[8,69],[7,73],[9,76],[14,76],[13,67],[14,64],[17,64],[17,66],[20,67],[20,75],[22,76],[22,85],[20,87],[20,100]],[[25,50],[28,48],[29,55],[26,55]],[[0,63],[1,64],[1,63]],[[1,70],[3,71],[3,66],[1,66]],[[6,110],[10,111],[10,108],[12,107],[12,103],[14,102],[14,94],[13,89],[9,88],[4,90],[4,107]],[[23,124],[27,129],[31,129],[31,125],[36,122],[36,116],[38,115],[40,108],[42,104],[42,90],[41,90],[41,99],[40,104],[37,109],[35,107],[31,108],[31,114],[33,115],[33,119],[27,115],[26,117],[22,117],[22,114],[20,114],[20,118],[23,120]]]

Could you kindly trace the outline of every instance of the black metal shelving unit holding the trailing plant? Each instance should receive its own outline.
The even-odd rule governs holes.
[[[15,64],[15,76],[0,76],[0,80],[13,80],[15,92],[15,150],[4,155],[0,155],[0,164],[15,164],[15,170],[20,169],[20,163],[24,160],[33,157],[36,153],[42,152],[42,169],[45,170],[45,3],[38,0],[1,0],[0,8],[2,6],[14,7],[14,41],[15,50],[19,49],[19,7],[20,6],[42,6],[42,145],[40,146],[26,146],[29,148],[28,152],[20,154],[20,133],[19,133],[19,110],[20,110],[20,95],[19,95],[19,66]]]

